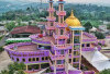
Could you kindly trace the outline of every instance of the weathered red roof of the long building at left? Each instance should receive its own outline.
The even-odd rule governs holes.
[[[40,30],[40,27],[28,25],[28,26],[15,27],[11,32],[11,34],[21,34],[21,33],[38,34],[41,33],[41,30]]]

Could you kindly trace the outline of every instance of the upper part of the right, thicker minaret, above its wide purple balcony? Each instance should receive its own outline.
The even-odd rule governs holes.
[[[58,0],[58,11],[56,14],[58,15],[58,23],[56,23],[56,37],[57,45],[66,45],[68,36],[66,35],[67,24],[64,22],[64,16],[66,15],[66,11],[64,11],[64,0]]]

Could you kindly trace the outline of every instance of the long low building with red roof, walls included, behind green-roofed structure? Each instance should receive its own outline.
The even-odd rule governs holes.
[[[12,38],[29,37],[32,34],[38,34],[38,33],[41,33],[40,27],[28,25],[13,28],[11,32],[11,36]]]

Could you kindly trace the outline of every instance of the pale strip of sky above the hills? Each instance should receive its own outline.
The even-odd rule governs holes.
[[[12,0],[12,1],[40,2],[41,0]],[[43,1],[47,2],[48,0],[43,0]],[[54,0],[54,1],[57,1],[57,0]],[[108,4],[108,5],[110,5],[110,0],[65,0],[65,1],[70,2],[70,3],[95,3],[95,4]]]

